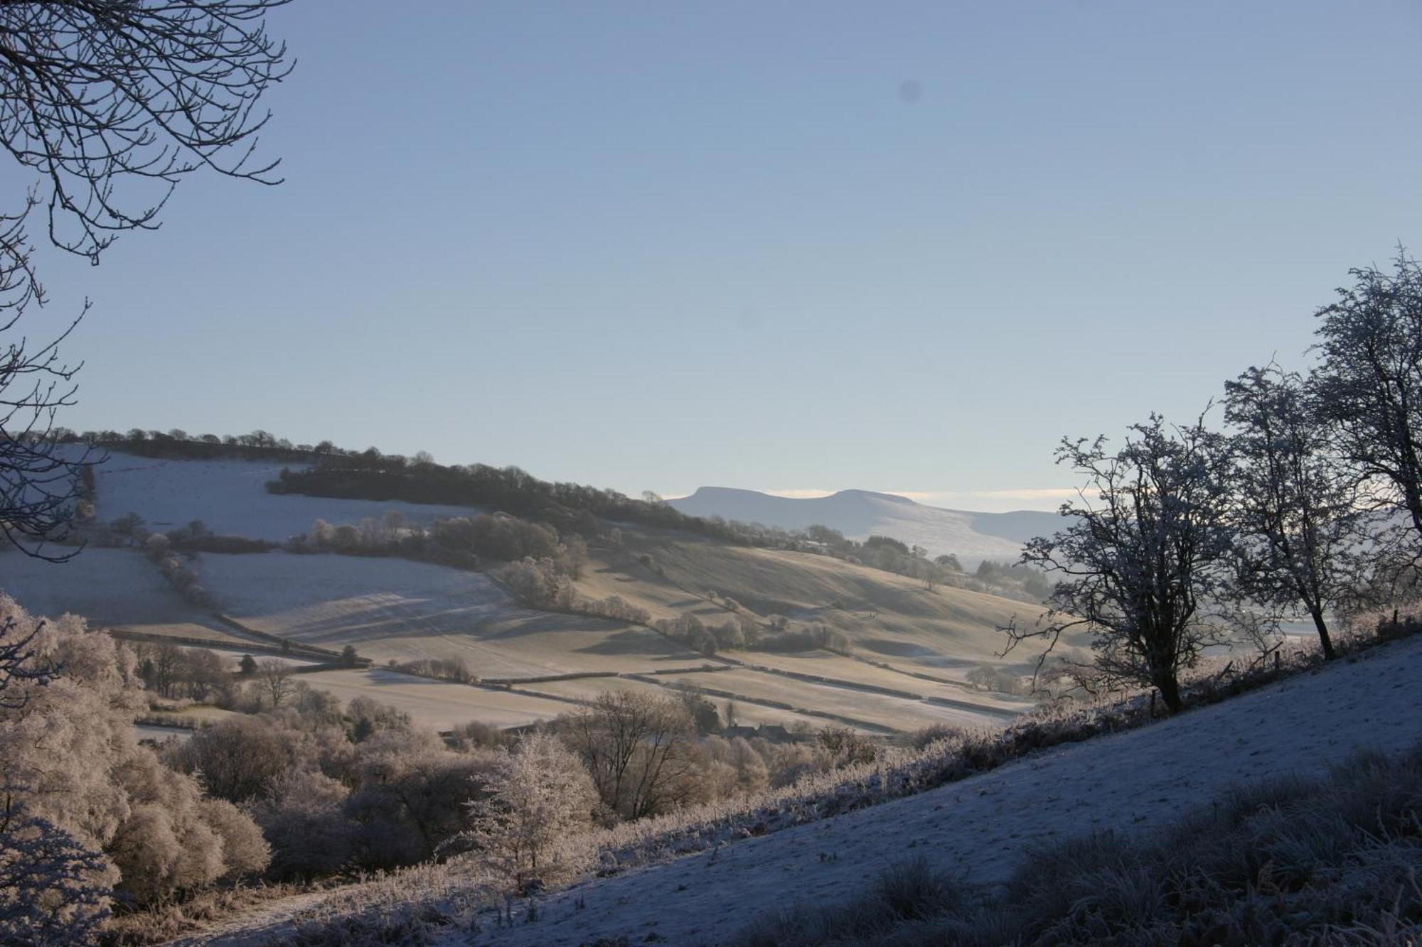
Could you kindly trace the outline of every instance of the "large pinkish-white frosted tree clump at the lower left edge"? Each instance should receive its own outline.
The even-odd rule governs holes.
[[[24,847],[33,826],[57,826],[104,856],[109,873],[94,879],[95,903],[107,903],[105,886],[142,903],[266,866],[250,818],[205,798],[192,776],[137,742],[144,697],[132,651],[74,616],[41,624],[3,596],[0,620],[33,634],[27,665],[48,677],[13,678],[6,694],[18,700],[0,707],[0,813],[23,816],[0,816],[0,849]],[[54,869],[63,880],[73,846],[54,845],[70,852]]]

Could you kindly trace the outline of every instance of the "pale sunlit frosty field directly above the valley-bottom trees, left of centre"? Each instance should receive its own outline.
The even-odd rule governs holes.
[[[387,668],[361,671],[319,671],[300,675],[319,691],[330,691],[341,701],[370,697],[410,714],[411,719],[434,729],[454,729],[479,721],[491,727],[522,727],[552,719],[576,710],[574,704],[526,694],[431,681]]]

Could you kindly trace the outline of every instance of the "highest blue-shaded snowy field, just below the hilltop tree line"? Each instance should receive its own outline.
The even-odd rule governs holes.
[[[400,510],[411,523],[438,516],[469,516],[469,506],[402,503],[400,501],[277,496],[266,482],[283,465],[262,461],[162,461],[112,452],[95,469],[98,516],[104,520],[138,513],[149,529],[166,530],[201,519],[215,533],[283,542],[310,532],[311,523],[358,523]]]

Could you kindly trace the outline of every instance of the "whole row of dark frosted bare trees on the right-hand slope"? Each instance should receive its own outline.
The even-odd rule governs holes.
[[[1004,631],[1008,650],[1085,631],[1106,683],[1182,707],[1180,673],[1241,630],[1267,641],[1308,619],[1324,658],[1330,621],[1416,586],[1422,562],[1422,267],[1399,247],[1391,273],[1315,313],[1317,364],[1276,364],[1226,384],[1226,428],[1152,414],[1119,448],[1064,439],[1082,475],[1071,525],[1032,539],[1022,563],[1049,573],[1042,621]]]

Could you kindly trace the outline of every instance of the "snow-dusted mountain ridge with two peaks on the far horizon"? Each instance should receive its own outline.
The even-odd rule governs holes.
[[[978,513],[856,489],[829,496],[789,498],[731,486],[702,486],[690,496],[667,502],[691,516],[721,516],[792,530],[829,526],[856,540],[872,535],[893,536],[910,546],[923,546],[930,556],[953,553],[967,567],[984,559],[1017,559],[1028,539],[1062,528],[1061,518],[1045,510]]]

